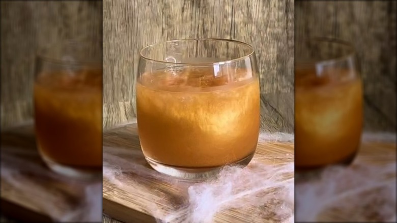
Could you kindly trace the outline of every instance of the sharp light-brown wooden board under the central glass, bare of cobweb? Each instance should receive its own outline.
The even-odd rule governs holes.
[[[156,210],[171,210],[173,205],[187,201],[186,187],[192,183],[164,175],[160,176],[161,174],[150,168],[140,150],[136,123],[105,131],[103,133],[103,147],[104,163],[108,163],[111,166],[120,165],[120,170],[125,173],[124,183],[128,182],[128,186],[134,188],[134,190],[126,190],[124,187],[113,183],[109,180],[111,178],[104,174],[104,214],[124,222],[156,222],[153,217],[154,204],[157,205],[155,207]],[[116,158],[117,156],[119,158]],[[119,160],[119,162],[110,162],[115,159]],[[294,144],[293,142],[266,143],[261,141],[257,147],[254,159],[258,162],[258,165],[291,163],[294,160]],[[131,166],[127,166],[127,163],[130,163]],[[249,166],[255,165],[252,163]],[[112,177],[115,176],[117,178],[117,174],[112,175]],[[264,216],[266,214],[261,214],[258,217],[253,216],[253,213],[257,211],[265,213],[264,208],[264,206],[253,207],[251,212],[246,212],[246,210],[239,211],[239,209],[222,211],[215,216],[214,222],[262,223],[264,220],[266,222],[277,222],[272,218],[274,216],[271,214],[269,216]],[[105,219],[109,219],[107,216],[104,216],[104,222],[117,222],[105,221]]]

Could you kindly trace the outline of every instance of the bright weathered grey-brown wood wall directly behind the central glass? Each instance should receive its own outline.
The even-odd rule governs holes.
[[[257,53],[262,127],[294,129],[294,1],[103,1],[104,127],[135,117],[139,50],[159,41],[216,37]]]

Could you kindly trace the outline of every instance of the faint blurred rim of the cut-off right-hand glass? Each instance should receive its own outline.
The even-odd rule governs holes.
[[[306,40],[304,40],[305,43],[311,43],[311,42],[323,42],[323,43],[332,43],[332,44],[337,44],[339,46],[344,46],[348,49],[347,53],[344,53],[343,55],[340,55],[338,57],[331,57],[330,59],[323,59],[319,60],[316,62],[313,62],[313,64],[316,65],[326,65],[326,64],[333,64],[337,62],[341,62],[344,60],[348,60],[349,58],[355,57],[356,54],[356,49],[353,46],[352,43],[343,40],[343,39],[338,39],[338,38],[333,38],[333,37],[311,37]]]

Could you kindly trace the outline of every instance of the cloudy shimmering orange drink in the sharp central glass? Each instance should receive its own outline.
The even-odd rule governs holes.
[[[230,75],[229,75],[230,76]],[[139,139],[146,157],[166,165],[210,168],[254,153],[259,135],[259,80],[212,69],[145,73],[137,83]]]

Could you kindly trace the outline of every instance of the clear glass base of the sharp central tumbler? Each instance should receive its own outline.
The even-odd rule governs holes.
[[[243,159],[230,163],[228,165],[239,165],[239,166],[246,166],[251,161],[254,152],[249,154],[248,156],[244,157]],[[173,166],[173,165],[166,165],[163,163],[159,163],[151,158],[145,157],[146,161],[149,163],[152,168],[162,174],[182,178],[186,180],[201,180],[207,179],[217,175],[224,166],[216,166],[212,168],[183,168],[181,166]]]

